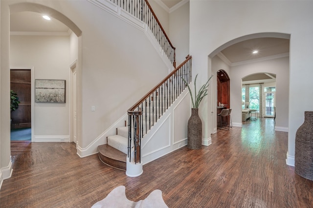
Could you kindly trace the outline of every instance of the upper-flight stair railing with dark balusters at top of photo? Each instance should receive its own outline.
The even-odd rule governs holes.
[[[164,53],[176,67],[175,47],[170,42],[166,35],[160,21],[158,21],[155,12],[153,11],[148,0],[110,0],[114,4],[120,6],[122,9],[129,12],[134,17],[145,22],[150,28],[151,32],[156,37],[157,42],[162,47]]]

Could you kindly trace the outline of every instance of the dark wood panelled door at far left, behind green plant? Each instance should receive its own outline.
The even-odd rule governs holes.
[[[11,129],[31,127],[30,69],[11,69],[11,89],[19,97],[19,108],[11,112]]]

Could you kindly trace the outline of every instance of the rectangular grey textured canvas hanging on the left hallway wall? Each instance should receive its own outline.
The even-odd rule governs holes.
[[[36,103],[65,103],[65,80],[35,80]]]

